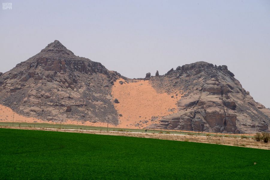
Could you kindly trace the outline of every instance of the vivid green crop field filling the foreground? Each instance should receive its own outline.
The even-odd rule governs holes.
[[[270,178],[269,150],[3,128],[0,140],[0,179]]]

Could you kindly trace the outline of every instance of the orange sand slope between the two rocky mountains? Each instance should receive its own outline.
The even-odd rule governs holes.
[[[125,82],[124,79],[118,79],[114,83],[111,92],[113,98],[117,98],[120,102],[119,104],[114,103],[115,109],[119,114],[122,114],[122,117],[119,117],[120,124],[117,127],[147,127],[148,125],[158,123],[158,119],[162,116],[167,116],[177,111],[177,101],[180,96],[176,98],[175,94],[159,94],[149,84],[148,80],[134,80],[129,83],[125,82],[122,85],[119,81]],[[174,96],[174,98],[171,98],[171,96]],[[152,116],[156,116],[158,119],[151,121]],[[140,125],[135,126],[137,123]]]

